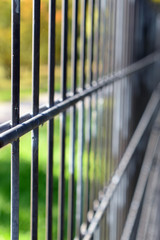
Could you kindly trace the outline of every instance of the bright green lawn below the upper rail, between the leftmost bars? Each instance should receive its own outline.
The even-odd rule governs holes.
[[[59,120],[55,120],[54,151],[54,196],[53,221],[57,222],[58,209],[58,176],[59,176]],[[39,140],[39,193],[38,193],[38,235],[45,239],[45,194],[47,165],[47,126],[40,127]],[[66,139],[67,140],[67,139]],[[0,154],[0,240],[10,239],[10,146],[1,149]],[[31,171],[31,133],[20,141],[20,239],[30,237],[30,171]],[[55,226],[56,224],[54,224]],[[57,227],[53,229],[57,235]],[[56,237],[55,237],[56,238]]]

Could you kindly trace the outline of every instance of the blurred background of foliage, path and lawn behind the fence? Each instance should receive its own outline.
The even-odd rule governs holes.
[[[95,27],[94,34],[96,36],[98,26],[98,7],[97,0],[95,9]],[[130,0],[135,2],[135,26],[134,31],[134,51],[133,61],[137,61],[148,54],[154,52],[160,47],[160,1],[159,0]],[[101,12],[103,13],[102,0]],[[46,103],[48,100],[48,0],[41,0],[41,29],[40,29],[40,103]],[[79,1],[79,6],[81,1]],[[56,48],[55,48],[55,98],[60,98],[61,89],[61,19],[62,19],[62,3],[56,1]],[[106,18],[109,13],[106,11]],[[86,84],[88,79],[88,43],[91,35],[91,21],[89,5],[87,5],[87,22],[86,22]],[[81,25],[81,8],[78,11],[78,59],[77,59],[77,83],[80,86],[80,25]],[[107,28],[107,26],[106,26]],[[71,34],[72,29],[72,0],[69,0],[68,9],[68,65],[67,65],[67,91],[71,90]],[[108,30],[107,30],[108,31]],[[32,0],[21,0],[21,56],[20,56],[20,100],[21,115],[30,112],[32,104]],[[100,40],[102,44],[102,39]],[[112,49],[108,49],[112,51]],[[101,54],[101,53],[100,53]],[[93,56],[93,78],[96,75],[94,67],[96,61],[96,46],[94,46]],[[100,74],[102,72],[100,58]],[[118,60],[117,60],[118,61]],[[153,71],[155,68],[155,71]],[[154,72],[154,75],[153,75]],[[136,97],[137,103],[144,101],[150,96],[152,90],[159,81],[159,65],[140,71],[136,78]],[[134,76],[135,78],[135,76]],[[152,79],[152,81],[150,81]],[[143,100],[140,97],[143,95]],[[141,98],[142,99],[142,98]],[[0,123],[11,119],[11,0],[0,1]],[[137,121],[138,108],[143,106],[136,105]],[[87,112],[87,110],[86,110]],[[67,116],[67,134],[66,134],[66,158],[69,159],[69,124],[70,119]],[[77,123],[76,123],[77,126]],[[58,221],[58,176],[59,176],[59,159],[60,159],[60,126],[59,117],[55,118],[55,134],[54,141],[57,147],[54,151],[54,208],[53,219],[54,228],[53,236],[57,236]],[[39,142],[39,216],[38,216],[38,233],[39,239],[45,239],[45,188],[46,188],[46,161],[47,161],[47,126],[46,124],[40,128]],[[77,149],[77,143],[76,143]],[[77,150],[76,150],[77,152]],[[28,133],[21,138],[20,143],[20,239],[29,239],[30,235],[30,162],[31,162],[31,134]],[[68,160],[66,166],[68,167]],[[66,173],[66,181],[68,181],[68,173]],[[67,185],[67,184],[66,184]],[[66,199],[68,189],[66,187]],[[65,218],[67,219],[67,201]],[[65,229],[67,236],[67,229]],[[0,240],[8,240],[10,238],[10,146],[0,151]]]

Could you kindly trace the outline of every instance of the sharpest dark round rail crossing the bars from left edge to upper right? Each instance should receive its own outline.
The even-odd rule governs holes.
[[[111,76],[104,76],[100,78],[98,82],[92,83],[92,87],[89,87],[83,90],[82,92],[65,99],[64,101],[55,104],[53,107],[50,107],[47,110],[31,117],[29,120],[26,120],[23,123],[18,124],[15,127],[12,127],[11,129],[3,132],[2,134],[0,134],[0,148],[4,147],[8,143],[12,143],[13,141],[23,136],[27,132],[44,124],[46,121],[52,119],[54,116],[65,111],[70,106],[75,105],[77,102],[83,100],[85,97],[90,96],[93,93],[97,92],[99,89],[107,85],[110,85],[128,75],[131,75],[153,64],[158,60],[160,60],[159,52],[150,54],[147,57],[143,58],[142,60],[133,63],[132,65],[122,69],[121,71],[118,71],[117,73]]]

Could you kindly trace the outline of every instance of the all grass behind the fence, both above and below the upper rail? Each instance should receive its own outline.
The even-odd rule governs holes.
[[[0,74],[1,71],[0,71]],[[2,74],[3,75],[3,74]],[[1,77],[1,76],[0,76]],[[31,95],[31,72],[23,69],[21,73],[21,99],[26,99]],[[69,88],[69,86],[68,86]],[[0,101],[10,100],[10,81],[0,81]],[[47,68],[41,68],[41,92],[47,91]],[[60,90],[60,69],[56,67],[56,91]],[[109,107],[111,102],[107,101]],[[85,115],[88,108],[85,109]],[[53,167],[53,239],[57,239],[58,229],[58,181],[60,175],[60,117],[56,117],[54,124],[54,167]],[[87,119],[86,119],[87,120]],[[70,117],[67,114],[66,121],[66,162],[65,162],[65,239],[67,239],[67,214],[68,214],[68,181],[69,181],[69,125]],[[76,128],[78,123],[76,122]],[[47,124],[40,126],[39,131],[39,192],[38,192],[38,239],[45,239],[45,201],[46,201],[46,166],[47,166]],[[76,130],[77,132],[77,130]],[[85,179],[87,176],[87,144],[84,147],[84,191]],[[76,141],[77,156],[77,141]],[[91,158],[94,158],[91,151]],[[77,164],[77,163],[76,163]],[[11,166],[11,147],[10,145],[0,150],[0,240],[10,239],[10,167]],[[76,169],[77,169],[76,165]],[[98,166],[99,167],[99,166]],[[99,169],[97,167],[97,169]],[[108,167],[109,168],[109,167]],[[76,177],[77,177],[76,170]],[[30,172],[31,172],[31,133],[28,133],[20,139],[20,199],[19,199],[19,228],[20,240],[30,239]],[[91,168],[93,172],[93,168]],[[97,176],[100,175],[97,174]],[[91,179],[94,177],[90,175]],[[101,177],[101,176],[99,176]],[[84,193],[85,195],[86,193]],[[84,196],[85,198],[85,196]]]

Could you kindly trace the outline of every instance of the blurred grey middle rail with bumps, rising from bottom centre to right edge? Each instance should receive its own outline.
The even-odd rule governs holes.
[[[115,174],[111,179],[110,184],[107,187],[106,193],[104,194],[104,197],[96,211],[96,214],[94,215],[91,221],[91,224],[89,225],[88,230],[86,231],[83,240],[92,239],[93,234],[95,233],[95,230],[103,217],[103,214],[105,213],[107,207],[109,206],[110,200],[112,199],[114,192],[116,191],[118,185],[121,182],[122,177],[124,176],[124,173],[126,172],[126,169],[130,163],[130,160],[132,159],[132,156],[138,146],[138,143],[142,139],[145,130],[147,129],[147,126],[152,121],[153,115],[155,113],[157,114],[159,108],[160,108],[160,84],[158,86],[158,89],[155,90],[154,93],[152,94],[152,97],[146,107],[146,110],[136,128],[136,131],[130,143],[128,144],[128,147],[124,153],[124,156],[122,157],[119,167],[117,168]]]

